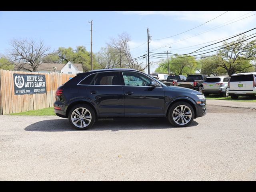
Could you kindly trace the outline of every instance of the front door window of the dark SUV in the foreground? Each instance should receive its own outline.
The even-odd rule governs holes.
[[[124,84],[126,86],[149,86],[150,81],[152,81],[147,76],[143,74],[134,73],[134,72],[123,72]],[[156,82],[158,85],[158,83]],[[158,85],[160,86],[160,85]]]

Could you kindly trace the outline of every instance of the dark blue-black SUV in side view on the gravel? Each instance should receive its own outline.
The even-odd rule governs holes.
[[[206,100],[198,91],[166,86],[137,70],[104,69],[79,73],[60,86],[54,112],[78,130],[115,117],[167,117],[185,127],[206,114]]]

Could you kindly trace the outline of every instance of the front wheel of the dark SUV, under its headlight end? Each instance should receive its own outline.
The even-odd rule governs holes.
[[[183,108],[183,110],[181,107]],[[183,113],[180,113],[180,112],[183,112]],[[187,115],[184,115],[184,113],[185,114],[187,113]],[[190,115],[188,116],[188,114]],[[195,112],[192,106],[187,102],[183,102],[183,101],[174,103],[172,106],[170,106],[170,110],[168,112],[168,120],[175,127],[188,126],[194,120],[194,116],[195,116]]]

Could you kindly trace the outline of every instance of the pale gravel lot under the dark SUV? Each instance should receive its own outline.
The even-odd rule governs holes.
[[[243,110],[209,105],[187,128],[130,118],[87,131],[57,116],[0,115],[0,180],[255,181],[256,112]]]

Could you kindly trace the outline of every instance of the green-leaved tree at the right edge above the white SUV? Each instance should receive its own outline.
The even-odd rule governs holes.
[[[226,70],[228,76],[237,72],[254,70],[256,59],[256,40],[244,41],[245,35],[240,36],[236,42],[224,42],[218,54],[218,66]]]

